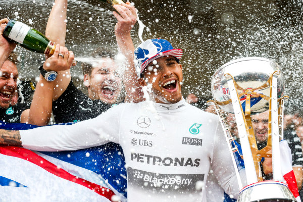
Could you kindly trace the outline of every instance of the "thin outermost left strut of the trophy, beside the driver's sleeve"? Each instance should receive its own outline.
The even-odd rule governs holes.
[[[229,150],[229,153],[231,155],[232,164],[233,164],[235,172],[236,172],[236,177],[237,177],[237,180],[238,180],[239,189],[241,190],[243,188],[243,185],[242,185],[242,181],[241,181],[241,178],[240,178],[238,166],[236,164],[236,160],[235,160],[235,157],[233,155],[233,153],[235,153],[235,152],[239,153],[239,150],[238,150],[238,148],[237,148],[237,146],[234,142],[234,138],[230,134],[230,131],[227,127],[227,124],[225,123],[224,118],[223,118],[223,116],[220,112],[220,109],[219,109],[218,105],[216,104],[216,102],[214,100],[209,100],[207,103],[213,104],[215,109],[216,109],[216,113],[219,117],[221,126],[223,128],[224,136],[225,136],[225,139],[226,139],[226,142],[227,142],[227,145],[228,145],[228,150]],[[233,145],[232,145],[232,142],[233,142]],[[239,153],[239,155],[240,155],[240,153]]]

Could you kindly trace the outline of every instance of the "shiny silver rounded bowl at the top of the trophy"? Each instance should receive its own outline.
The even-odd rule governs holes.
[[[277,63],[265,58],[233,60],[221,66],[214,73],[211,81],[213,97],[223,111],[234,113],[225,78],[225,74],[230,74],[236,83],[240,102],[245,105],[245,92],[247,90],[255,94],[262,94],[262,96],[251,98],[251,114],[264,112],[269,108],[270,77],[273,72],[280,70],[281,68]],[[278,98],[283,96],[283,92],[284,79],[280,73],[278,76]]]

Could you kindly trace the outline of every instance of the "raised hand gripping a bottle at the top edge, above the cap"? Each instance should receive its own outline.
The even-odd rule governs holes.
[[[124,36],[130,34],[130,30],[134,27],[137,22],[137,14],[135,7],[131,6],[129,2],[122,5],[114,5],[117,12],[113,12],[118,22],[115,26],[115,34]]]

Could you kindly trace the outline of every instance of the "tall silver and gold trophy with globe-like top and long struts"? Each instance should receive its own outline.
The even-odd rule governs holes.
[[[238,201],[296,201],[281,172],[280,139],[283,139],[284,79],[277,63],[264,58],[242,58],[221,66],[212,77],[212,93],[228,141],[238,178]],[[278,107],[279,105],[279,107]],[[234,113],[248,186],[242,186],[233,153],[237,146],[219,107]],[[266,147],[258,150],[250,115],[269,110]],[[272,158],[273,180],[263,181],[261,159]]]

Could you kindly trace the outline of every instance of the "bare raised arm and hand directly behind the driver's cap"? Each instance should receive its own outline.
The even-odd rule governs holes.
[[[137,74],[134,66],[134,44],[131,39],[130,30],[137,21],[136,9],[129,2],[122,5],[114,5],[117,12],[114,16],[118,22],[115,26],[115,34],[119,52],[126,57],[127,69],[124,73],[124,85],[126,90],[125,102],[138,103],[143,100],[141,86],[137,81]]]

